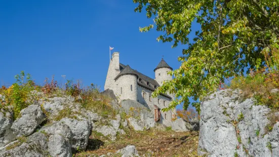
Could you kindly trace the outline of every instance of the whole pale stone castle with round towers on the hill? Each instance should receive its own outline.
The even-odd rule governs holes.
[[[104,90],[112,90],[118,101],[135,100],[145,107],[154,111],[154,121],[163,124],[170,124],[175,116],[175,109],[163,112],[172,101],[173,96],[161,94],[157,98],[152,98],[152,92],[162,86],[163,81],[172,80],[172,76],[167,74],[172,70],[164,59],[154,69],[155,79],[148,77],[129,65],[119,63],[119,53],[114,52],[110,60]]]

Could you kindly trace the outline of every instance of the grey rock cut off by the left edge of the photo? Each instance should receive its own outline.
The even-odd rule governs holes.
[[[14,141],[16,137],[11,129],[13,115],[8,111],[4,113],[0,111],[0,147]]]

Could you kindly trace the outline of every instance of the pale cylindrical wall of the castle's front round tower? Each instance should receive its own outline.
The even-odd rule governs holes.
[[[125,74],[118,77],[114,92],[116,93],[116,96],[119,97],[119,100],[130,99],[137,101],[137,76],[133,74]]]

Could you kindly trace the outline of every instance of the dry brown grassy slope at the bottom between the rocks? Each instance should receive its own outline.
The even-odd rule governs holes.
[[[148,156],[148,154],[151,156],[197,156],[198,132],[158,131],[154,129],[131,131],[125,136],[118,136],[114,142],[105,143],[93,135],[90,136],[88,150],[79,152],[75,156],[115,153],[127,145],[135,145],[140,156]]]

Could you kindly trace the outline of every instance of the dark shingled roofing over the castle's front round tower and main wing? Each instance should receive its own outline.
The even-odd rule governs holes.
[[[144,88],[147,88],[151,91],[155,90],[154,86],[160,87],[160,85],[153,78],[150,78],[150,77],[138,72],[137,70],[132,69],[129,65],[126,66],[122,63],[119,63],[119,69],[121,70],[121,72],[114,78],[114,80],[117,80],[117,78],[119,76],[124,75],[124,74],[134,74],[138,77],[138,80],[137,80],[138,85],[140,85]],[[146,82],[148,82],[149,84],[147,84]],[[171,97],[167,94],[161,94],[161,95],[171,99]]]

